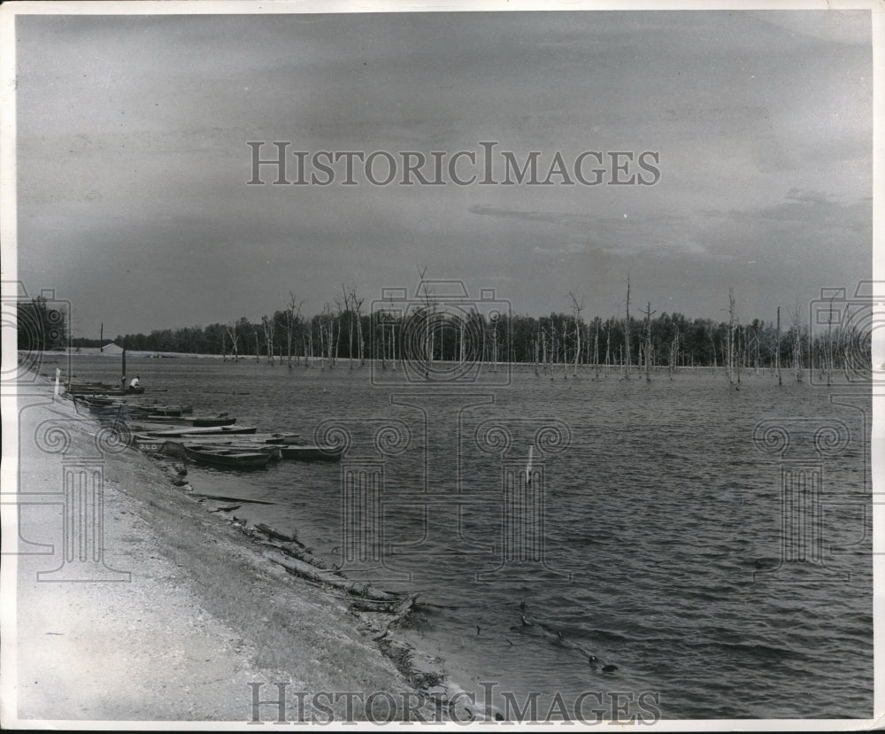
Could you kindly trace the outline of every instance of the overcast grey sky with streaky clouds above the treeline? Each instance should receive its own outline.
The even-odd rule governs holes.
[[[732,287],[746,320],[871,277],[869,12],[19,15],[16,38],[18,277],[73,302],[75,336],[258,319],[289,290],[318,313],[342,283],[369,303],[418,267],[604,317],[627,274],[637,312],[722,318]],[[250,186],[250,141],[494,141],[542,177],[655,151],[660,177]]]

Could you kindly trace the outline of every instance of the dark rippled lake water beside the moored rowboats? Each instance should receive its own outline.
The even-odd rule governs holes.
[[[647,383],[559,367],[550,379],[520,366],[441,390],[373,386],[370,367],[346,360],[128,363],[165,390],[146,398],[196,413],[311,442],[323,421],[341,424],[342,464],[190,467],[191,483],[272,501],[236,514],[296,533],[348,576],[418,592],[426,606],[403,634],[479,700],[494,682],[496,706],[502,692],[520,706],[538,692],[541,718],[557,694],[571,714],[585,692],[591,721],[594,708],[612,715],[614,692],[641,716],[651,696],[668,719],[873,715],[863,387],[789,375],[779,387],[750,372],[735,390],[721,370]],[[112,381],[119,360],[75,357],[73,374]],[[772,452],[754,442],[762,421],[760,438],[789,431],[782,455],[776,431],[761,442]],[[375,493],[345,491],[342,470],[374,477]],[[781,472],[820,477],[820,492],[792,485],[785,512]],[[354,512],[365,522],[348,525]]]

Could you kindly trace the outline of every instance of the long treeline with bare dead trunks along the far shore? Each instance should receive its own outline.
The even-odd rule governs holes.
[[[585,318],[573,297],[569,312],[546,316],[507,313],[480,303],[416,301],[379,306],[366,313],[353,291],[342,290],[335,307],[305,316],[302,303],[286,306],[259,321],[238,321],[161,329],[118,336],[117,344],[149,352],[215,354],[223,359],[254,359],[290,367],[359,367],[366,359],[396,367],[402,359],[516,362],[538,372],[579,366],[620,368],[637,378],[661,369],[720,368],[732,379],[746,370],[776,369],[801,379],[804,369],[822,372],[869,364],[870,336],[842,322],[820,323],[795,310],[772,321],[738,321],[734,297],[727,321],[656,313],[643,304],[639,315]]]

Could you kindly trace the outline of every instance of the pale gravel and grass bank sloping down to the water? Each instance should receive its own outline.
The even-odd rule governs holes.
[[[253,702],[279,701],[277,683],[289,722],[448,718],[440,701],[451,691],[432,659],[396,640],[392,614],[356,611],[345,591],[294,576],[273,538],[267,545],[235,513],[197,501],[186,476],[131,449],[96,454],[96,421],[41,390],[19,402],[19,491],[59,493],[73,465],[99,471],[104,552],[101,563],[67,562],[63,495],[19,502],[14,640],[4,588],[4,727],[275,722],[277,703]],[[58,449],[46,421],[66,427],[67,452],[46,451]],[[9,495],[4,503],[4,537],[14,537],[16,506]],[[103,568],[110,580],[56,581],[75,568]],[[463,704],[452,713],[479,714]]]

